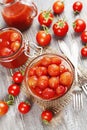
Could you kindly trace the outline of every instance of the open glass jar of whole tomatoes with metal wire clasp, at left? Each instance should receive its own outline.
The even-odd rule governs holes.
[[[0,30],[0,64],[4,67],[22,66],[29,57],[34,57],[40,48],[33,42],[25,40],[22,33],[16,28]]]

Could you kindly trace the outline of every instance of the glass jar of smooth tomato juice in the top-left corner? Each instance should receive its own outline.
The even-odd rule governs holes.
[[[29,28],[37,15],[37,7],[31,0],[1,0],[0,4],[6,24],[21,31]]]

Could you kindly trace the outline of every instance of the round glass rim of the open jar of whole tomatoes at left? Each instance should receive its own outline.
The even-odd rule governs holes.
[[[1,31],[1,33],[2,33],[2,32],[4,32],[4,31],[6,31],[6,30],[15,30],[16,32],[18,32],[18,33],[20,34],[20,36],[21,36],[21,46],[20,46],[20,48],[19,48],[16,52],[14,52],[12,55],[9,55],[9,56],[0,56],[0,61],[1,61],[1,60],[9,60],[9,59],[11,59],[11,58],[14,58],[14,57],[19,53],[19,51],[21,50],[21,48],[22,48],[22,46],[23,46],[23,44],[22,44],[22,43],[23,43],[23,35],[22,35],[22,33],[21,33],[20,30],[14,28],[14,27],[7,27],[7,28],[2,28],[0,31]]]

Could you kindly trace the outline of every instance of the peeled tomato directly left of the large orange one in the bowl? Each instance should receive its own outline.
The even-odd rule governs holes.
[[[49,79],[49,87],[50,88],[55,89],[58,87],[58,85],[59,85],[59,77],[51,77]]]

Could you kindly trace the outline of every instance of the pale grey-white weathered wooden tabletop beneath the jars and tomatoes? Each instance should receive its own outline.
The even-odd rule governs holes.
[[[35,4],[38,8],[38,13],[41,10],[47,10],[52,7],[52,3],[55,0],[34,0]],[[83,10],[78,16],[73,15],[72,4],[75,0],[64,0],[65,10],[59,17],[66,18],[69,24],[69,32],[64,38],[64,41],[68,44],[69,48],[72,47],[73,37],[78,43],[79,49],[82,47],[80,36],[74,35],[72,29],[72,22],[76,18],[82,18],[86,21],[87,24],[87,1],[80,0],[83,2]],[[1,16],[0,16],[1,18]],[[2,18],[0,19],[0,27],[4,27],[4,21]],[[39,30],[39,23],[37,17],[34,19],[34,22],[30,29],[23,32],[24,37],[29,39],[30,41],[36,42],[35,35]],[[57,46],[57,38],[54,37],[52,33],[52,41],[50,46],[53,48],[58,48]],[[73,34],[73,37],[71,35]],[[87,59],[85,59],[84,66],[87,69]],[[8,86],[11,84],[11,77],[9,75],[9,70],[0,66],[0,100],[3,99],[7,94]],[[44,126],[40,120],[40,114],[42,109],[38,106],[38,104],[34,103],[31,111],[26,115],[21,115],[17,106],[18,103],[24,100],[26,96],[23,92],[15,100],[15,104],[10,107],[8,113],[0,117],[0,130],[87,130],[87,96],[83,92],[83,101],[84,108],[79,112],[73,110],[73,102],[70,101],[62,112],[57,115],[57,118],[52,123],[52,125]]]

